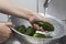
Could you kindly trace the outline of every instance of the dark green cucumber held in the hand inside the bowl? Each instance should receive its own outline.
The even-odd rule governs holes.
[[[44,29],[44,31],[54,31],[54,26],[50,24],[48,22],[35,22],[35,24],[38,24]]]

